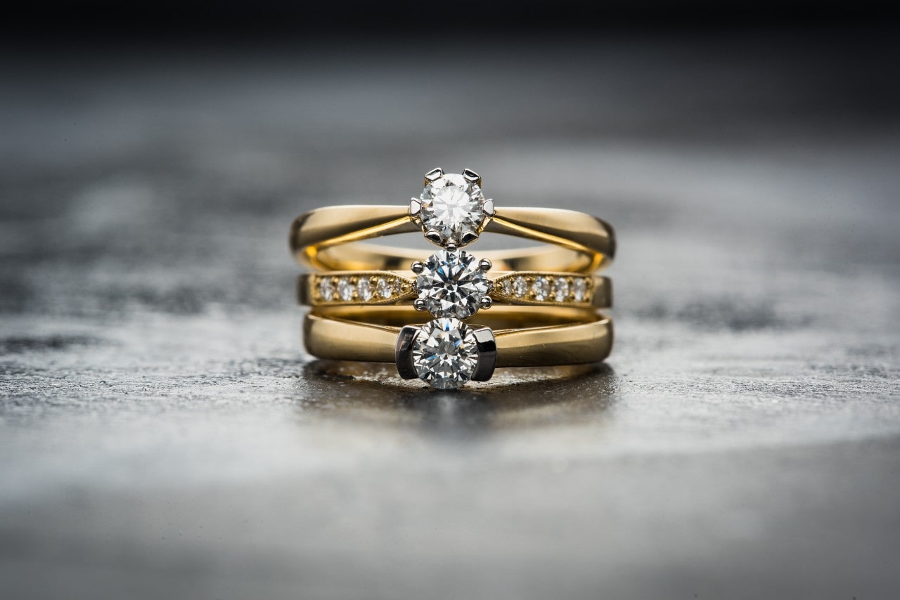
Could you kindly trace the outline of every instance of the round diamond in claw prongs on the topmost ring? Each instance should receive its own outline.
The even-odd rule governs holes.
[[[447,174],[429,182],[420,196],[426,231],[435,229],[445,244],[462,244],[466,233],[479,232],[484,220],[482,188],[463,175]]]

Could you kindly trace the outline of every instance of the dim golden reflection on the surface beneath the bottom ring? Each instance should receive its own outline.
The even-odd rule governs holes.
[[[387,363],[316,360],[303,371],[304,380],[323,392],[320,399],[304,399],[304,410],[357,425],[410,425],[462,435],[571,424],[589,414],[596,418],[616,387],[616,374],[605,363],[498,369],[491,381],[470,382],[462,390],[403,381]]]

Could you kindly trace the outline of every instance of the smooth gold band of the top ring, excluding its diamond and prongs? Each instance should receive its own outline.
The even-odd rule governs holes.
[[[294,219],[291,250],[298,262],[321,271],[395,271],[422,252],[360,241],[420,231],[407,207],[329,206]],[[616,254],[613,228],[574,210],[498,208],[484,231],[553,245],[479,253],[500,271],[590,273]]]

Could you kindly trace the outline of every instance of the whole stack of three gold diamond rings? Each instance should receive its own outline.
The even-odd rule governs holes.
[[[434,252],[363,240],[420,231]],[[475,253],[482,234],[544,246]],[[597,363],[612,349],[613,229],[572,210],[503,208],[471,169],[425,175],[406,206],[334,206],[293,222],[291,248],[307,352],[393,362],[440,390],[488,381],[496,367]],[[465,249],[464,249],[465,248]]]

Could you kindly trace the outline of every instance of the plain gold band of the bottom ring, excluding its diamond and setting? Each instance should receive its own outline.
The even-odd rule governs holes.
[[[589,309],[495,307],[471,327],[491,327],[498,367],[599,363],[613,345],[612,320]],[[303,340],[313,356],[341,361],[393,363],[401,327],[422,323],[406,307],[313,309]]]

